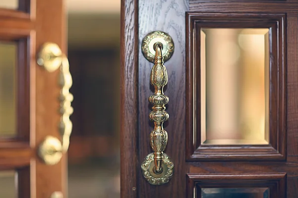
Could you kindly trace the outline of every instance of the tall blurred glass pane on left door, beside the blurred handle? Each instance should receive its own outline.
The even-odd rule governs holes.
[[[16,43],[0,43],[0,136],[16,133]]]

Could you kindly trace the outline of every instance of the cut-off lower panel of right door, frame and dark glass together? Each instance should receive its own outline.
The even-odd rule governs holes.
[[[187,176],[187,198],[208,198],[212,194],[214,194],[213,198],[222,196],[224,198],[245,198],[245,196],[248,198],[284,198],[286,196],[285,173],[188,174]],[[207,196],[208,194],[210,196]]]

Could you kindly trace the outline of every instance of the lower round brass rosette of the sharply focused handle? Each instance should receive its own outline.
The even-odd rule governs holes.
[[[155,172],[154,153],[147,155],[143,161],[141,168],[143,170],[143,176],[152,185],[162,185],[168,183],[174,172],[174,164],[167,154],[162,153],[162,172]]]

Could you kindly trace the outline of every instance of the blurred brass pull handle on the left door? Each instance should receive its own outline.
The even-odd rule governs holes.
[[[53,72],[60,67],[59,85],[61,90],[59,112],[61,117],[59,132],[62,135],[62,143],[58,138],[47,136],[38,150],[39,156],[46,164],[54,165],[61,160],[62,154],[67,152],[70,144],[70,136],[73,129],[70,115],[74,111],[71,102],[74,97],[69,90],[73,85],[73,80],[68,58],[56,44],[45,43],[38,54],[37,63],[49,72]]]

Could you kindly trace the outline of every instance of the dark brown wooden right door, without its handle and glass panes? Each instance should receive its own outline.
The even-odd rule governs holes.
[[[212,191],[266,192],[267,188],[269,198],[296,197],[298,3],[293,0],[122,2],[122,197],[202,198]],[[133,13],[137,5],[138,13]],[[202,141],[204,70],[200,63],[203,56],[211,56],[212,60],[213,55],[209,49],[206,50],[209,54],[202,52],[200,33],[204,28],[269,29],[267,82],[263,76],[263,84],[268,86],[268,122],[263,123],[267,124],[269,144]],[[175,166],[173,177],[161,186],[150,185],[141,172],[141,163],[151,152],[149,134],[153,126],[148,118],[151,111],[148,98],[154,91],[149,84],[153,64],[142,54],[141,43],[149,32],[156,30],[169,34],[175,45],[173,56],[164,64],[168,73],[164,94],[169,97],[166,106],[169,119],[164,123],[168,132],[165,152]]]

